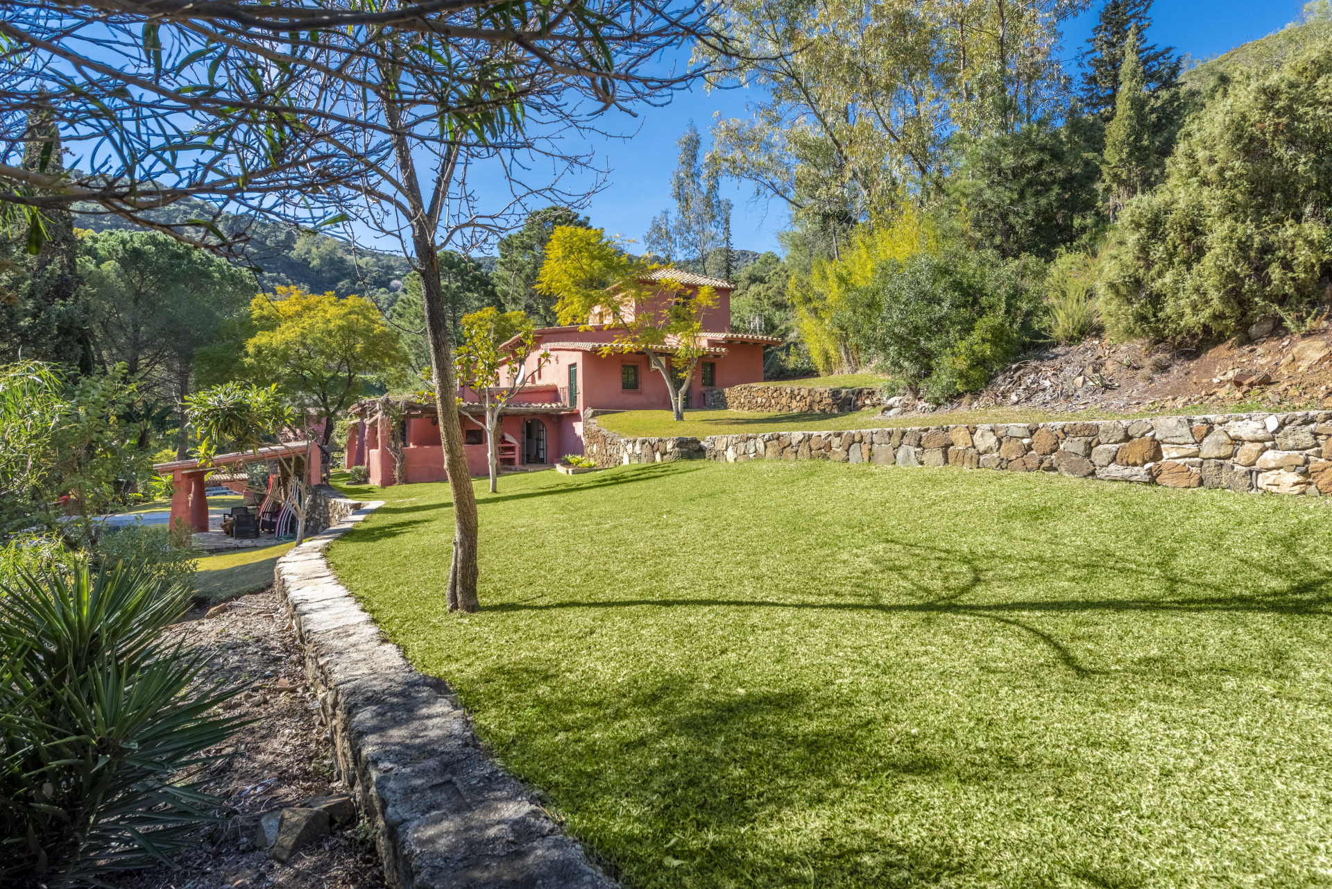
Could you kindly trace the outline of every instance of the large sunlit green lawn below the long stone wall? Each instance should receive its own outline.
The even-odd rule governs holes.
[[[1332,885],[1332,502],[677,462],[330,558],[626,886]]]

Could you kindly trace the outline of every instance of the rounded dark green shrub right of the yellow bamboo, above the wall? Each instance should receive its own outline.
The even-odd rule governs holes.
[[[1034,337],[1024,267],[950,247],[890,260],[856,288],[862,355],[939,403],[982,388]]]

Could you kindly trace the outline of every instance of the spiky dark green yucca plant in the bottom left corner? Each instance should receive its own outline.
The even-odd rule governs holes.
[[[163,640],[188,602],[135,566],[0,577],[0,884],[101,885],[220,820],[200,752],[241,724],[210,712],[240,689]]]

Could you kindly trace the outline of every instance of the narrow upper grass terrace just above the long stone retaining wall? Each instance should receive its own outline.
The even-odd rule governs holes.
[[[1233,408],[1188,408],[1171,415],[1228,413],[1261,411],[1253,405]],[[1159,411],[1140,413],[1111,413],[1108,411],[1079,411],[1076,413],[1050,413],[1035,408],[988,408],[984,411],[948,411],[936,413],[907,413],[880,417],[883,408],[866,408],[851,413],[762,413],[741,411],[686,411],[679,423],[670,411],[622,411],[597,417],[603,429],[629,437],[729,436],[742,432],[823,432],[831,429],[886,429],[896,427],[938,427],[979,423],[1075,423],[1078,420],[1128,420],[1160,416]]]

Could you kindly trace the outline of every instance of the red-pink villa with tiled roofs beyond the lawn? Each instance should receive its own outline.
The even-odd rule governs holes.
[[[726,281],[679,269],[658,269],[645,283],[667,275],[690,289],[711,287],[717,291],[717,304],[703,313],[702,336],[707,352],[694,369],[686,405],[707,404],[711,389],[761,381],[763,349],[779,345],[781,337],[731,332],[734,287]],[[613,327],[591,324],[586,331],[578,325],[549,327],[538,328],[535,333],[537,348],[525,363],[523,375],[535,369],[537,353],[546,351],[550,360],[505,408],[501,468],[543,468],[554,465],[566,453],[581,454],[585,411],[670,409],[666,381],[651,369],[646,355],[601,355],[601,349],[615,337]],[[473,476],[485,476],[489,472],[485,411],[472,389],[462,388],[460,395],[468,469]],[[346,465],[366,466],[370,484],[392,485],[392,443],[397,441],[402,446],[406,482],[442,481],[444,449],[434,405],[416,401],[394,404],[401,409],[396,431],[380,412],[380,400],[365,400],[352,408],[352,416],[360,423],[348,433]]]

